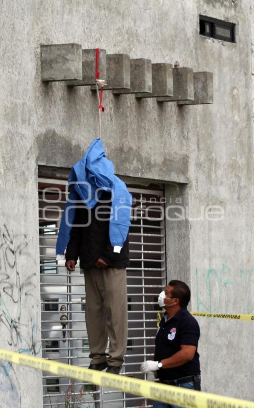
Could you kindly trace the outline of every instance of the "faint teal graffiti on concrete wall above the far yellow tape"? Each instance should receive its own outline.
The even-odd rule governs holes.
[[[220,268],[196,268],[196,307],[208,313],[253,313],[254,266],[234,270],[227,264]],[[237,310],[236,310],[237,306]]]

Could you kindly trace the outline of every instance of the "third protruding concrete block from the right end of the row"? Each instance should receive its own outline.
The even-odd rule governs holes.
[[[173,67],[167,62],[152,64],[152,93],[136,94],[136,98],[159,96],[173,96]]]

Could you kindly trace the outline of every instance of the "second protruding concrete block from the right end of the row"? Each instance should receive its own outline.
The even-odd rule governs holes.
[[[173,96],[157,98],[157,102],[194,100],[192,68],[173,68],[173,91]]]

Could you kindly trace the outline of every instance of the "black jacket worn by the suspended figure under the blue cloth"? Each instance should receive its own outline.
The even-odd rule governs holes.
[[[73,226],[71,239],[67,245],[66,261],[80,258],[80,268],[95,266],[98,258],[105,261],[110,268],[126,268],[129,266],[128,237],[120,253],[113,252],[109,239],[109,217],[111,207],[111,193],[103,192],[100,201],[94,208],[89,209],[83,204],[76,208],[74,224],[87,226]],[[90,214],[89,214],[90,213]]]

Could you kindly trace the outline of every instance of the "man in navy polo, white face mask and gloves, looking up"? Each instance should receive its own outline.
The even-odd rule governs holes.
[[[200,390],[200,366],[197,346],[200,336],[197,320],[188,312],[190,288],[172,280],[159,294],[158,303],[165,308],[155,338],[155,361],[141,365],[143,373],[156,371],[163,384]],[[155,402],[153,408],[169,408]]]

